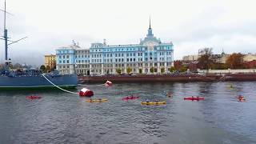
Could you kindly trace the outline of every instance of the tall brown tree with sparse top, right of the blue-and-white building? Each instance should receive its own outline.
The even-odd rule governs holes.
[[[213,48],[209,48],[209,47],[199,50],[200,58],[198,58],[198,65],[200,66],[200,69],[203,69],[203,70],[210,69],[210,66],[213,63],[212,51],[213,51]]]

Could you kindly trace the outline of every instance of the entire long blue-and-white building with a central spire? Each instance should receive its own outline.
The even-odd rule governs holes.
[[[174,45],[161,42],[154,37],[151,26],[146,38],[138,44],[107,45],[92,43],[90,49],[77,45],[56,50],[57,69],[62,73],[77,74],[147,74],[163,73],[170,70],[174,63]]]

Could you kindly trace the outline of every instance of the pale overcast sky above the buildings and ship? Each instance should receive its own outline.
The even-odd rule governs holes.
[[[10,46],[14,62],[43,64],[74,39],[84,48],[91,42],[136,44],[149,27],[162,42],[174,43],[174,59],[197,54],[256,53],[255,0],[6,0],[9,37],[26,40]],[[0,0],[4,9],[4,0]],[[3,13],[0,12],[3,35]],[[4,42],[0,41],[0,61]]]

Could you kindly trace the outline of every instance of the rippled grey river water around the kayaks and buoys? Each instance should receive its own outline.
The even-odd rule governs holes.
[[[102,103],[60,90],[0,91],[0,143],[256,143],[255,84],[78,86],[78,90],[94,90],[93,98],[108,99]],[[168,98],[163,91],[174,96]],[[42,98],[26,99],[31,94]],[[140,98],[122,101],[129,94]],[[238,102],[238,94],[246,102]],[[183,100],[190,96],[206,99]],[[166,101],[166,105],[142,106],[146,99]]]

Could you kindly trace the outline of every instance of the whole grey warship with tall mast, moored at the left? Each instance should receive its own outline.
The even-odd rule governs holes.
[[[8,58],[8,46],[18,41],[11,41],[6,30],[6,1],[4,12],[4,35],[2,40],[5,43],[5,64],[0,69],[0,90],[14,89],[53,89],[53,88],[74,88],[78,85],[77,74],[59,74],[58,70],[43,74],[42,71],[29,67],[13,70],[10,69],[10,58]],[[10,42],[10,43],[8,43]],[[75,72],[74,72],[75,73]]]

